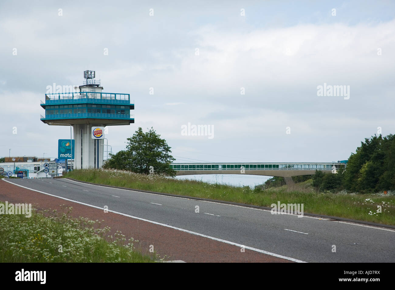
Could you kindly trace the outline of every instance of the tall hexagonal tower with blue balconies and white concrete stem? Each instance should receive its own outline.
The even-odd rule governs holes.
[[[45,101],[41,101],[43,123],[73,127],[75,169],[103,165],[104,139],[99,138],[104,137],[104,131],[100,127],[134,123],[130,114],[134,100],[131,102],[129,94],[103,93],[100,80],[94,79],[95,71],[84,71],[84,78],[82,86],[74,87],[76,92],[45,94]]]

